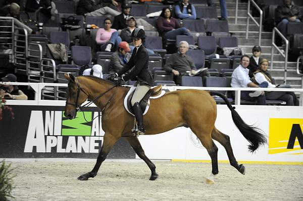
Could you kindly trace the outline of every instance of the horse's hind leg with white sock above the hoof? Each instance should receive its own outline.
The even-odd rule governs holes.
[[[206,179],[206,182],[209,184],[213,184],[215,183],[214,181],[215,175],[219,173],[218,147],[215,145],[214,141],[212,140],[210,133],[199,132],[199,135],[197,135],[197,132],[194,133],[201,141],[202,145],[206,148],[212,159],[212,174]]]

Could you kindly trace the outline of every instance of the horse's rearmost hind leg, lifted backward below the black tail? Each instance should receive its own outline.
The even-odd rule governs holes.
[[[214,127],[212,131],[212,138],[215,141],[218,141],[225,148],[230,165],[235,167],[240,173],[245,174],[245,167],[242,164],[238,165],[238,162],[234,157],[229,136],[225,135],[224,133],[219,131],[216,127]]]

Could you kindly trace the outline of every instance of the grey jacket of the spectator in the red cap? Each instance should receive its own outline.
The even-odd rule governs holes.
[[[130,53],[126,53],[126,55],[123,56],[120,52],[115,51],[111,56],[109,69],[110,74],[115,74],[121,71],[125,64],[129,61],[130,56]]]

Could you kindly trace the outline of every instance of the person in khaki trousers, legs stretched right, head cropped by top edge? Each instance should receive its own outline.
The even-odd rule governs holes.
[[[120,15],[120,12],[110,7],[104,7],[99,0],[80,0],[77,5],[76,14],[85,16],[117,16]]]

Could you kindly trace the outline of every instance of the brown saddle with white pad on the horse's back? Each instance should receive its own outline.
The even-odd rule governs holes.
[[[124,107],[133,116],[134,116],[134,112],[131,106],[131,98],[135,92],[135,89],[136,87],[132,86],[124,98]],[[162,85],[149,89],[148,92],[145,94],[145,96],[142,98],[142,100],[139,102],[141,110],[143,111],[143,115],[146,114],[146,112],[148,111],[149,103],[150,103],[149,98],[151,99],[160,98],[164,94],[165,91],[162,91]]]

